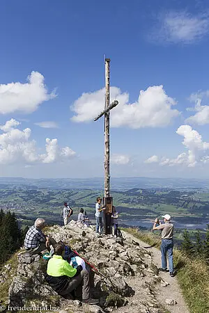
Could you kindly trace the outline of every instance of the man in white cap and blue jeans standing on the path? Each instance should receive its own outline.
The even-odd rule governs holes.
[[[159,223],[158,218],[155,218],[155,223],[153,225],[153,230],[162,230],[162,243],[161,243],[161,259],[162,259],[162,268],[160,271],[167,272],[167,253],[169,259],[169,272],[170,276],[174,277],[173,269],[173,230],[174,226],[171,224],[171,216],[165,214],[162,216],[164,219],[164,224],[156,226]]]

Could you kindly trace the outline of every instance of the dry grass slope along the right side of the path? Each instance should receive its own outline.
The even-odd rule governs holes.
[[[124,228],[125,232],[150,246],[160,248],[160,239],[152,233],[141,232],[134,228]],[[177,278],[183,296],[191,313],[209,312],[209,268],[203,259],[187,257],[177,248],[173,251],[174,264],[178,270]]]

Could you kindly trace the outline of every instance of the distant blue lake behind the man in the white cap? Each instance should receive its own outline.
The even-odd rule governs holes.
[[[150,229],[153,227],[153,220],[150,219],[141,219],[141,220],[120,220],[119,221],[121,224],[123,223],[124,225],[127,226],[141,226],[141,227],[146,227]],[[196,230],[196,229],[204,229],[207,228],[207,224],[209,223],[180,223],[174,220],[172,220],[173,225],[176,228],[187,228],[188,230]]]

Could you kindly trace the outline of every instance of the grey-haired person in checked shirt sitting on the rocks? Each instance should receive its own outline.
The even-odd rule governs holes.
[[[46,236],[42,230],[45,227],[45,220],[43,218],[37,218],[33,226],[26,232],[24,239],[24,248],[29,251],[30,255],[39,254],[42,250],[47,249],[50,251],[49,246],[56,244],[53,238]]]

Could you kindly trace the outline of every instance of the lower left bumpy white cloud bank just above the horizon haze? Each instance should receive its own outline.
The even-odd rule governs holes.
[[[38,153],[36,141],[31,140],[31,129],[17,129],[20,122],[11,119],[0,129],[0,163],[52,163],[75,156],[70,147],[60,148],[57,139],[46,139],[46,152]]]

